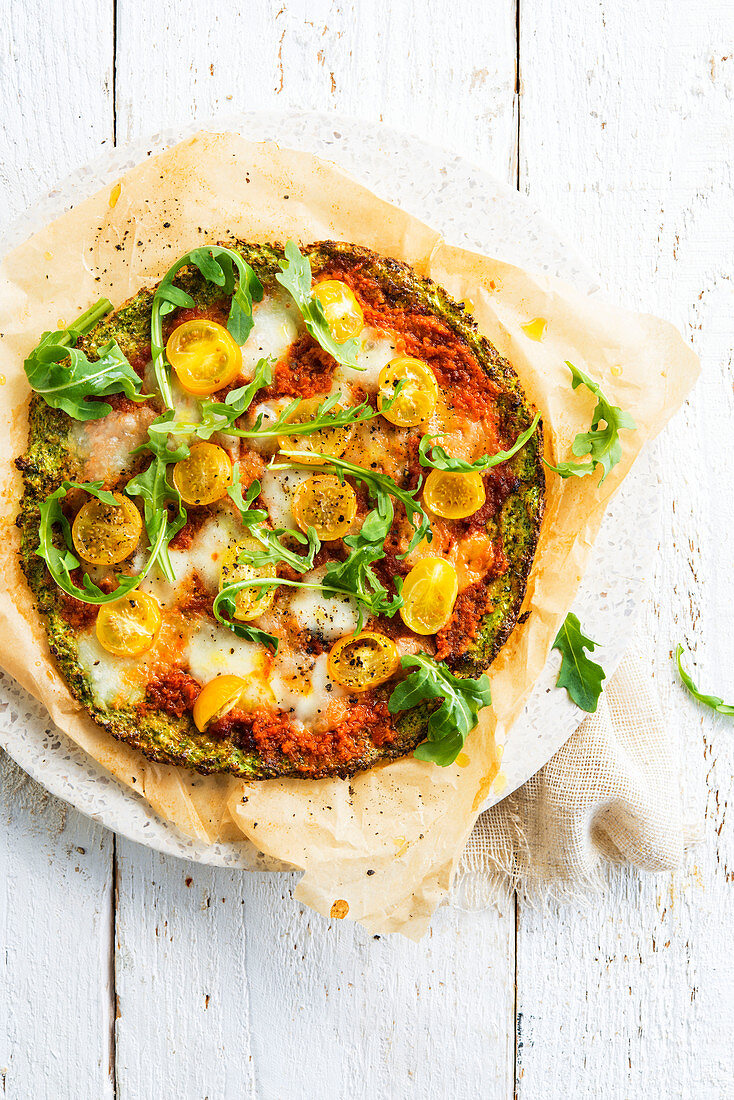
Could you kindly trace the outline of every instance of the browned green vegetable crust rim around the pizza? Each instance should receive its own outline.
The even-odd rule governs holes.
[[[235,248],[256,272],[265,288],[272,287],[280,271],[282,248],[277,244],[223,242]],[[377,255],[369,249],[324,241],[306,246],[311,267],[318,273],[332,262],[359,264],[366,274],[380,282],[386,298],[394,305],[423,307],[442,318],[469,345],[487,375],[499,384],[501,435],[511,443],[533,420],[519,380],[496,349],[479,333],[476,323],[460,304],[430,279],[420,278],[412,267],[399,261]],[[182,271],[177,285],[186,289],[202,307],[218,300],[217,287],[207,284],[195,268]],[[117,340],[128,358],[134,360],[142,346],[150,343],[150,314],[153,289],[143,288],[109,318],[101,321],[79,342],[90,358],[96,349]],[[92,696],[89,680],[78,660],[77,634],[61,614],[63,594],[51,579],[44,561],[35,553],[39,546],[39,506],[65,479],[78,477],[80,471],[69,450],[68,433],[74,421],[62,410],[48,407],[33,395],[29,409],[29,444],[18,460],[23,474],[24,493],[17,520],[21,531],[21,568],[31,588],[37,610],[45,617],[48,645],[74,697],[95,722],[114,738],[140,749],[157,763],[168,763],[204,774],[229,772],[249,779],[313,778],[329,776],[348,778],[359,771],[386,763],[410,752],[426,735],[430,707],[421,705],[397,716],[395,740],[377,748],[370,746],[349,763],[329,766],[319,771],[303,770],[297,759],[283,766],[269,766],[256,754],[245,751],[229,740],[215,740],[199,734],[190,716],[176,718],[163,711],[139,707],[119,710],[99,706]],[[505,502],[499,520],[493,524],[503,536],[508,569],[487,587],[487,610],[475,641],[460,657],[449,661],[454,671],[476,676],[485,671],[517,623],[525,596],[535,549],[543,520],[545,474],[541,461],[541,425],[526,447],[508,463],[521,487]]]

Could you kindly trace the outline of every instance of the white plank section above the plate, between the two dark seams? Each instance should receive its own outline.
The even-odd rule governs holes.
[[[145,65],[155,41],[154,64]],[[218,111],[380,120],[514,179],[514,0],[118,0],[118,141]]]

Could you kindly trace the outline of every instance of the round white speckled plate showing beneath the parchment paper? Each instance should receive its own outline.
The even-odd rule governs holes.
[[[8,227],[0,254],[151,153],[196,130],[233,130],[254,141],[317,153],[361,179],[379,195],[440,230],[452,244],[521,266],[558,275],[593,294],[594,275],[516,190],[482,168],[406,134],[337,116],[258,112],[219,118],[154,135],[80,169]],[[644,455],[604,520],[592,564],[574,609],[592,638],[604,639],[607,675],[629,641],[656,544],[659,494],[655,463]],[[642,541],[640,541],[642,539]],[[505,747],[502,796],[530,778],[571,736],[582,718],[555,686],[558,653],[551,654]],[[146,803],[112,779],[55,726],[45,710],[0,673],[0,744],[47,790],[95,821],[152,848],[221,866],[250,866],[243,846],[207,846],[161,821]],[[499,801],[490,798],[485,806]]]

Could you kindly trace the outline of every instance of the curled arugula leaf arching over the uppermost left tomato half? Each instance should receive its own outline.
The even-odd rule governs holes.
[[[168,268],[153,295],[151,355],[161,397],[169,409],[173,408],[173,395],[163,341],[163,318],[174,309],[190,309],[195,304],[190,294],[174,284],[178,272],[188,264],[198,267],[207,283],[220,286],[224,295],[232,295],[227,328],[239,344],[243,344],[252,331],[253,301],[262,301],[263,297],[262,283],[250,264],[245,263],[239,253],[220,244],[193,249]],[[234,274],[235,268],[239,282]]]

